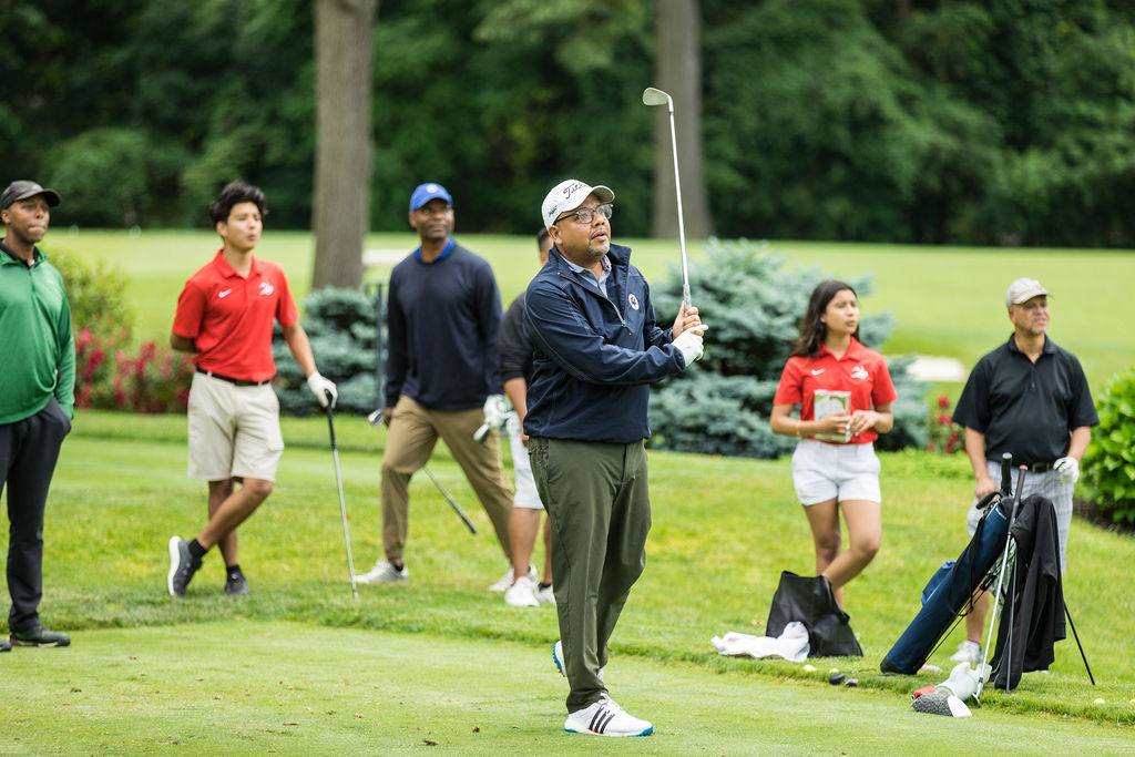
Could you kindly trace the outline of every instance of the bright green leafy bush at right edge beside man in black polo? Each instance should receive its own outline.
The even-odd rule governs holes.
[[[1084,455],[1084,489],[1112,520],[1135,523],[1135,367],[1096,401],[1100,428]]]

